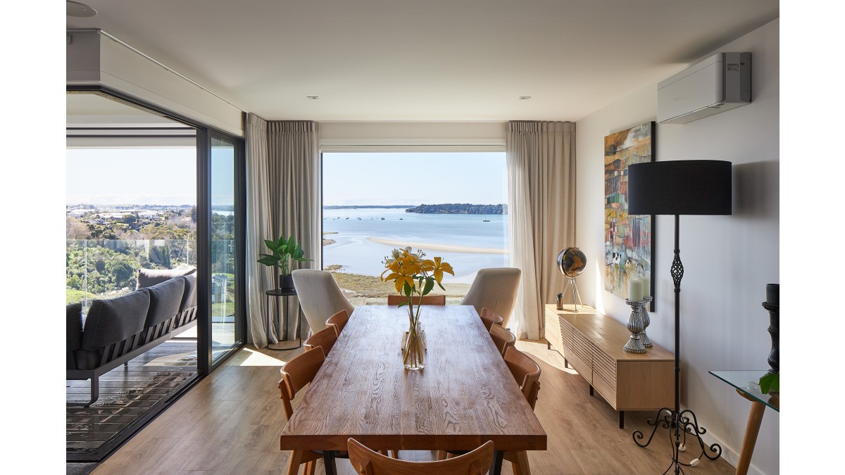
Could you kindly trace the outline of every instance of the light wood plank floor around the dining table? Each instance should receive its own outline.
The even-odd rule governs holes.
[[[646,449],[631,439],[634,429],[651,429],[653,412],[626,412],[619,429],[616,412],[545,343],[520,341],[542,367],[537,418],[548,434],[548,450],[529,452],[532,473],[660,474],[668,467],[671,445],[658,429]],[[285,425],[277,382],[281,363],[302,350],[273,352],[247,347],[141,430],[93,472],[108,473],[282,473],[287,452],[279,450]],[[303,391],[304,392],[304,391]],[[294,401],[294,407],[296,407]],[[646,436],[649,434],[646,432]],[[692,448],[687,453],[693,453]],[[407,460],[431,460],[429,452],[401,452]],[[698,451],[695,451],[697,456]],[[691,458],[691,457],[690,457]],[[338,461],[341,475],[354,471]],[[319,474],[324,473],[318,462]],[[503,473],[512,473],[505,462]],[[727,461],[701,461],[684,467],[687,475],[731,474]]]

